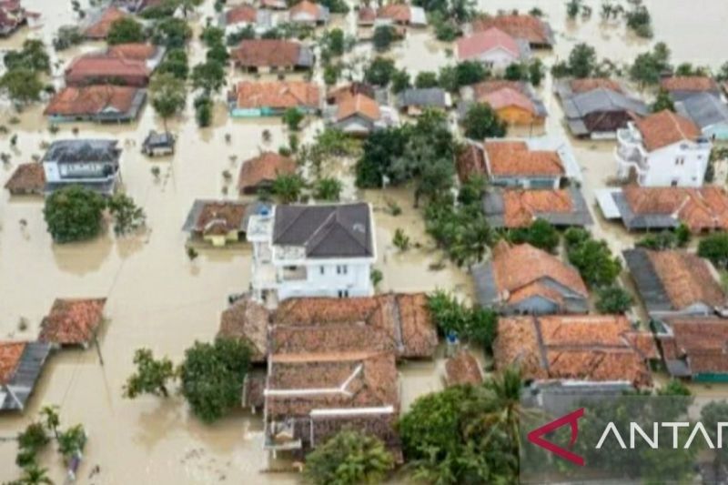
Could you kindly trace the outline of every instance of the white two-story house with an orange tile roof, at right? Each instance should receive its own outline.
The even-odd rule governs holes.
[[[688,118],[664,110],[617,131],[617,177],[642,187],[701,187],[711,142]]]

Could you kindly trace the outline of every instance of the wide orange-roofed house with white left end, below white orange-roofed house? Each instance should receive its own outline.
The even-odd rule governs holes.
[[[622,220],[628,230],[673,229],[691,232],[728,230],[728,193],[721,187],[604,188],[597,203],[607,219]]]

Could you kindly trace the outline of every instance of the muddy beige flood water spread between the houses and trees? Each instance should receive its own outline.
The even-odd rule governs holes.
[[[480,8],[495,13],[499,8],[541,7],[557,36],[554,51],[544,55],[547,65],[567,56],[577,41],[595,45],[599,56],[623,62],[649,47],[649,41],[626,34],[623,26],[601,25],[599,2],[586,3],[594,7],[591,20],[573,23],[566,21],[561,0],[482,0]],[[715,67],[728,58],[721,48],[728,25],[728,7],[723,0],[645,3],[653,17],[653,41],[667,42],[675,62]],[[24,4],[43,14],[43,25],[0,41],[0,49],[15,48],[28,37],[49,42],[59,25],[75,22],[66,1],[25,0]],[[212,2],[207,0],[201,11],[200,18],[212,15]],[[341,19],[339,25],[350,29],[354,25],[350,20]],[[62,53],[56,76],[72,56],[95,46],[83,45]],[[393,50],[393,56],[399,66],[408,67],[414,74],[452,62],[447,48],[434,41],[432,35],[421,32],[410,35],[405,45]],[[197,39],[189,49],[192,62],[203,56]],[[239,78],[239,73],[231,73],[228,85]],[[541,87],[550,114],[546,132],[566,136],[561,110],[550,93],[551,81],[547,80]],[[76,136],[117,138],[124,146],[124,188],[146,210],[148,228],[130,237],[117,238],[109,231],[91,242],[58,246],[45,230],[41,197],[9,197],[7,191],[0,191],[0,338],[35,338],[41,318],[55,298],[108,298],[107,321],[99,338],[103,365],[93,349],[57,352],[49,359],[25,413],[0,417],[0,482],[18,476],[14,463],[16,443],[1,439],[14,437],[47,404],[60,407],[64,425],[83,423],[89,435],[79,483],[296,482],[298,477],[293,474],[260,473],[264,451],[259,416],[241,410],[208,426],[192,417],[179,397],[128,400],[121,396],[122,386],[133,371],[135,349],[147,347],[178,362],[194,340],[214,338],[227,296],[248,288],[251,254],[247,246],[200,248],[199,258],[190,262],[185,252],[187,235],[180,229],[196,198],[237,197],[234,182],[226,182],[224,171],[233,174],[235,180],[242,160],[261,149],[275,150],[286,144],[288,133],[280,120],[232,120],[220,96],[212,127],[198,129],[188,106],[184,116],[169,123],[178,136],[177,154],[148,159],[139,153],[139,145],[149,129],[163,129],[149,106],[130,126],[66,124],[56,134],[48,130],[42,111],[43,106],[35,106],[18,114],[5,106],[0,112],[0,125],[9,129],[8,134],[0,135],[0,152],[11,155],[10,163],[0,166],[0,186],[5,185],[17,164],[41,156],[44,144],[53,140]],[[76,133],[73,128],[77,128]],[[266,129],[272,134],[268,144],[262,141]],[[16,147],[10,145],[12,135],[17,135]],[[584,169],[585,196],[593,203],[592,189],[603,186],[613,175],[613,144],[571,143]],[[152,175],[152,167],[160,168],[158,179]],[[353,187],[349,169],[342,168],[339,177],[345,179],[347,187]],[[472,297],[469,275],[454,268],[432,247],[420,213],[412,208],[409,190],[360,193],[351,189],[346,193],[350,199],[363,198],[375,207],[379,247],[376,266],[384,275],[381,291],[449,288],[461,298]],[[402,214],[389,214],[391,202],[403,209]],[[392,247],[392,235],[398,227],[418,243],[417,248],[399,253]],[[599,236],[609,238],[613,249],[630,244],[618,227],[597,224],[594,229]],[[441,268],[433,270],[433,265]],[[28,322],[25,330],[20,329],[21,319]],[[418,396],[440,389],[441,368],[441,359],[400,367],[405,408]],[[56,454],[49,453],[43,464],[53,480],[63,482],[64,470]],[[96,466],[100,472],[89,478]]]

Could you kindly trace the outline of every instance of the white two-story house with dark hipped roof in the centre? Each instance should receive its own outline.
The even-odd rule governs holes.
[[[251,216],[253,298],[369,297],[377,258],[369,204],[274,206]]]

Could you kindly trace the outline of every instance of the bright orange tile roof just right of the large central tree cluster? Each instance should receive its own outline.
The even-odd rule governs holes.
[[[489,140],[484,147],[490,174],[495,177],[561,177],[566,173],[557,152],[530,150],[524,141]]]

